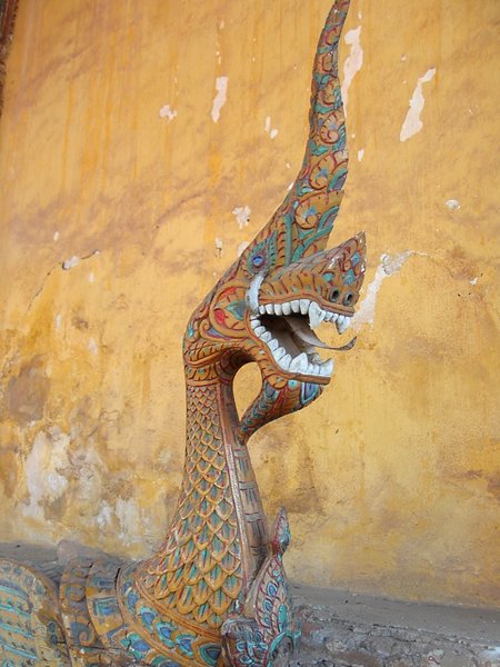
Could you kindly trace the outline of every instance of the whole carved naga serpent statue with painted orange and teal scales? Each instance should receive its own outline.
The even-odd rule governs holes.
[[[313,329],[342,334],[363,280],[363,233],[326,249],[347,176],[338,44],[348,6],[336,0],[318,44],[300,173],[188,322],[186,462],[164,541],[139,563],[77,557],[57,583],[0,560],[1,667],[288,665],[301,631],[282,560],[290,532],[284,509],[268,528],[248,440],[330,382]],[[240,417],[232,385],[249,362],[262,385]]]

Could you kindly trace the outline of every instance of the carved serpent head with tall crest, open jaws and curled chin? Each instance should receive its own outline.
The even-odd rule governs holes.
[[[326,249],[347,176],[337,56],[347,7],[337,0],[318,46],[302,169],[268,225],[197,308],[184,337],[188,382],[231,380],[242,365],[258,364],[262,388],[240,421],[243,437],[321,394],[333,361],[321,360],[317,348],[328,346],[313,329],[326,321],[342,334],[363,280],[363,233]]]

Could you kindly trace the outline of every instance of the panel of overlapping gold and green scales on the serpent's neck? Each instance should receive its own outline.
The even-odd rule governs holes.
[[[159,554],[141,568],[143,593],[157,606],[211,628],[221,626],[242,586],[219,400],[219,385],[188,387],[179,507]]]

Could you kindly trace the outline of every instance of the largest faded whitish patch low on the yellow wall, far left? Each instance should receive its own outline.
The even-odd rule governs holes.
[[[62,496],[68,479],[63,471],[70,468],[68,434],[52,427],[48,432],[39,431],[33,447],[26,459],[24,475],[29,500],[23,514],[44,519],[42,502],[53,502]]]

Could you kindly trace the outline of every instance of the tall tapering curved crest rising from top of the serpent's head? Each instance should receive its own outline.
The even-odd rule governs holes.
[[[347,177],[346,118],[338,77],[338,44],[349,0],[336,0],[321,32],[312,72],[309,139],[302,168],[283,203],[241,257],[271,245],[269,269],[323,250]]]

